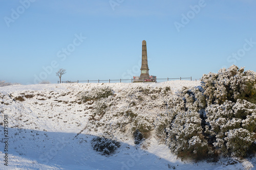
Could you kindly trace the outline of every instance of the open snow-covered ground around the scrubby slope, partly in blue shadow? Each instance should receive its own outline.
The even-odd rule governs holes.
[[[146,140],[147,147],[134,144],[129,130],[115,132],[121,147],[114,154],[104,156],[93,150],[91,140],[103,133],[104,128],[88,129],[93,127],[90,118],[94,105],[79,103],[79,92],[108,86],[116,96],[121,96],[125,90],[138,86],[169,86],[175,93],[183,86],[199,85],[199,81],[178,80],[152,84],[73,83],[0,87],[0,169],[256,169],[253,157],[242,160],[221,158],[218,162],[181,160],[154,135]],[[125,104],[118,105],[121,108]],[[159,110],[152,109],[150,113],[157,116]],[[3,124],[6,117],[8,124]],[[4,125],[8,125],[7,137],[4,136]],[[8,151],[5,151],[6,140]],[[3,161],[6,153],[8,166]]]

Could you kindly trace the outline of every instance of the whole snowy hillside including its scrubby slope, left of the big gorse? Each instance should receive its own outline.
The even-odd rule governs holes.
[[[199,81],[169,81],[0,87],[1,158],[8,153],[8,166],[1,161],[0,169],[255,168],[255,158],[182,161],[158,138],[154,124],[159,114],[165,112],[164,99],[184,86],[199,85]],[[82,98],[86,92],[97,98],[92,91],[102,88],[113,90],[114,95],[101,100]],[[139,89],[144,90],[141,97],[138,97]],[[140,124],[134,122],[132,114],[141,117],[138,119]],[[8,124],[3,121],[6,117]],[[7,137],[4,136],[5,125],[8,125]],[[132,131],[136,128],[142,128],[148,134],[140,144],[134,143]],[[101,155],[91,145],[95,136],[105,133],[113,134],[121,144],[109,156]],[[5,151],[6,140],[8,151]]]

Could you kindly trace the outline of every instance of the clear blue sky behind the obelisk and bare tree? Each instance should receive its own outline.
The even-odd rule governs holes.
[[[130,79],[147,42],[150,75],[256,71],[256,1],[0,1],[0,80]]]

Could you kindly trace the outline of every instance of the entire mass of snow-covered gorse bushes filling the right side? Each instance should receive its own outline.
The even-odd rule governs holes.
[[[255,152],[256,73],[233,65],[203,75],[201,84],[169,96],[156,126],[159,137],[181,156]]]

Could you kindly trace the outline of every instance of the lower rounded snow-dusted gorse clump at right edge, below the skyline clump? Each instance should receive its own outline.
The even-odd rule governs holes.
[[[206,132],[223,154],[246,156],[256,132],[256,105],[238,99],[206,109]]]

